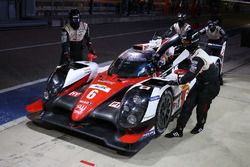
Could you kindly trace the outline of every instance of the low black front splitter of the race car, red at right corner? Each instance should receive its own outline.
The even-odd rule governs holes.
[[[73,134],[79,134],[79,137],[91,137],[98,139],[110,148],[127,153],[136,153],[141,150],[150,139],[154,138],[154,127],[147,128],[142,132],[133,134],[124,134],[109,123],[102,123],[100,120],[87,120],[86,122],[73,123],[67,114],[57,114],[54,112],[31,113],[29,119],[39,124],[52,125],[53,128],[60,128]],[[150,120],[154,122],[154,120]]]

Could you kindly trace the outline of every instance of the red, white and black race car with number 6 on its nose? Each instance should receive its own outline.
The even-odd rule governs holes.
[[[155,50],[146,45],[124,51],[106,70],[88,61],[57,67],[42,98],[26,107],[31,120],[100,139],[119,151],[138,152],[165,131],[195,82],[166,84],[181,75],[174,71],[187,50],[162,72],[151,61]]]

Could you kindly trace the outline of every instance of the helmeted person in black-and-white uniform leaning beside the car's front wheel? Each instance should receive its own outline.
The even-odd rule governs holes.
[[[191,88],[182,111],[177,120],[176,128],[165,137],[182,137],[192,110],[196,108],[197,124],[191,130],[192,134],[201,132],[207,119],[207,112],[212,100],[219,94],[220,83],[218,80],[219,71],[210,59],[209,55],[199,48],[199,33],[189,30],[182,37],[182,46],[190,52],[191,65],[186,74],[178,80],[168,81],[169,85],[186,84],[196,77],[196,83]]]

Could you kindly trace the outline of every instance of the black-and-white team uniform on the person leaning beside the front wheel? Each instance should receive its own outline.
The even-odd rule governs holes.
[[[178,128],[183,129],[189,120],[195,106],[197,112],[197,126],[203,127],[206,123],[207,112],[212,100],[220,91],[218,80],[219,72],[209,55],[198,49],[191,59],[189,71],[179,79],[179,84],[185,84],[196,77],[196,83],[190,90],[184,103],[181,115],[178,118]]]

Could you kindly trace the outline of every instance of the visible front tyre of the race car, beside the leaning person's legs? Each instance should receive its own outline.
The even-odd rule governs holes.
[[[159,136],[167,129],[173,111],[173,95],[166,90],[159,101],[155,115],[155,135]]]

